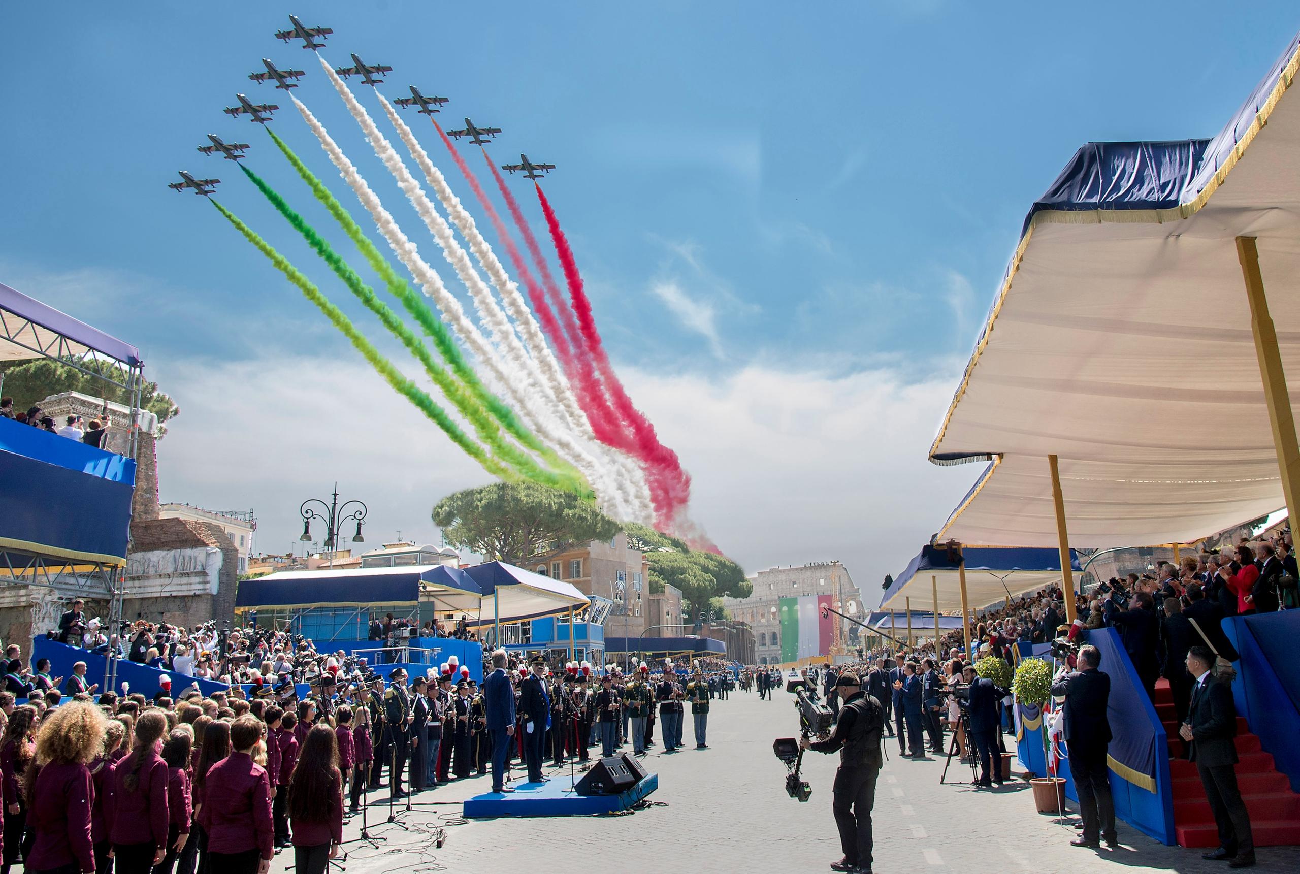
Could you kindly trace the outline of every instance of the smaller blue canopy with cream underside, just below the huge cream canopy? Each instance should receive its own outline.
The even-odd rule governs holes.
[[[939,611],[978,610],[997,601],[1061,584],[1061,553],[1024,546],[966,546],[966,594],[962,572],[944,546],[926,545],[880,597],[881,609],[898,610],[907,598],[919,607]],[[1070,567],[1079,571],[1079,557],[1070,550]],[[935,592],[937,587],[937,605]],[[958,628],[961,624],[957,626]]]

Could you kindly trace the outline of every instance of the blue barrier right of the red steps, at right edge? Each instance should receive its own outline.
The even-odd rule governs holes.
[[[1300,711],[1292,697],[1296,683],[1292,653],[1300,636],[1300,610],[1227,616],[1222,622],[1240,659],[1234,662],[1232,697],[1273,765],[1300,792]],[[1288,687],[1292,684],[1292,687]]]

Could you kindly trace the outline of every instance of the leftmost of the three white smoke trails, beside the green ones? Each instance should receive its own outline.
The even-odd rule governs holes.
[[[592,484],[592,488],[597,490],[599,497],[615,505],[611,507],[611,512],[627,514],[628,509],[623,506],[623,501],[620,499],[621,496],[618,496],[618,489],[611,486],[610,477],[602,466],[598,464],[595,459],[593,459],[590,454],[577,441],[575,441],[564,428],[556,428],[555,425],[558,423],[554,423],[550,415],[546,415],[545,412],[538,415],[538,412],[533,410],[532,404],[528,403],[528,395],[523,390],[523,386],[517,380],[512,381],[506,375],[504,369],[500,367],[500,359],[495,354],[495,350],[491,349],[488,339],[478,333],[478,329],[465,316],[460,302],[447,291],[446,286],[442,284],[442,278],[424,261],[422,258],[420,258],[415,243],[407,239],[406,234],[402,233],[396,221],[389,211],[384,208],[378,195],[376,195],[365,179],[361,178],[361,174],[343,153],[343,150],[338,147],[338,143],[335,143],[329,135],[325,126],[321,125],[321,122],[306,105],[303,105],[302,100],[294,95],[289,96],[298,108],[298,112],[303,116],[307,126],[311,127],[312,133],[316,135],[316,139],[320,140],[321,148],[325,150],[330,161],[335,168],[338,168],[343,181],[347,182],[348,187],[351,187],[356,194],[358,200],[361,202],[361,205],[364,205],[374,218],[374,224],[380,229],[380,233],[384,234],[389,247],[402,260],[406,268],[411,271],[411,274],[415,277],[421,290],[433,298],[451,329],[488,367],[497,382],[504,386],[506,391],[512,397],[515,402],[514,406],[519,411],[520,416],[523,416],[528,425],[543,440],[555,446],[556,451],[564,457],[566,460],[572,463],[582,472],[584,476],[586,476],[588,483]]]

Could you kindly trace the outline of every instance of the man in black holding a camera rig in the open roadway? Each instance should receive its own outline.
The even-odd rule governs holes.
[[[885,717],[880,702],[863,693],[857,675],[845,671],[835,683],[844,705],[827,740],[800,739],[802,749],[818,753],[840,750],[840,770],[835,774],[835,825],[840,830],[844,858],[832,862],[836,871],[871,871],[871,808],[876,802],[876,775],[883,765],[880,732]]]

